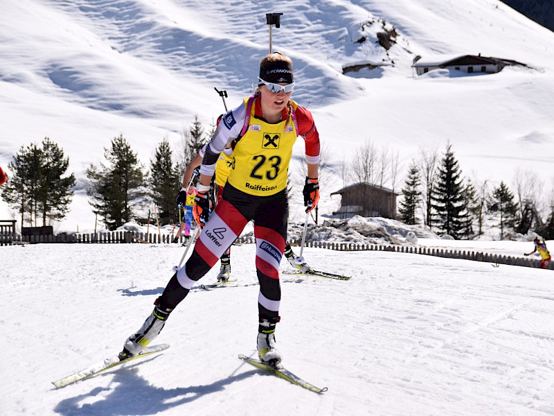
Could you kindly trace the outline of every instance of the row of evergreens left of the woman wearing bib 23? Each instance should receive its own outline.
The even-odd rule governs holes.
[[[104,148],[105,163],[91,164],[86,171],[84,188],[93,212],[113,230],[131,220],[145,223],[148,218],[143,218],[144,211],[153,202],[160,225],[177,222],[175,198],[184,169],[213,130],[214,126],[206,135],[196,116],[182,136],[179,155],[174,158],[169,142],[163,139],[146,174],[127,139],[114,137],[111,146]],[[21,146],[8,164],[12,177],[0,188],[3,200],[21,215],[21,225],[50,225],[66,216],[75,187],[73,173],[66,174],[68,167],[69,157],[64,157],[63,150],[48,137],[42,147]]]

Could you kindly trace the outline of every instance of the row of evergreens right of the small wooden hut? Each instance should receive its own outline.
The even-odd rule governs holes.
[[[469,239],[483,234],[486,218],[499,229],[501,239],[513,232],[526,234],[529,229],[534,229],[545,239],[554,238],[554,201],[551,202],[548,220],[543,223],[535,202],[524,198],[516,202],[514,193],[503,181],[490,193],[486,193],[484,187],[483,192],[478,193],[471,180],[462,177],[450,144],[447,144],[437,166],[434,166],[432,157],[424,156],[422,164],[412,162],[402,188],[404,198],[398,211],[404,223],[420,223],[418,211],[425,206],[422,209],[424,224],[438,234],[447,234],[454,239]],[[425,182],[425,187],[422,182]]]

